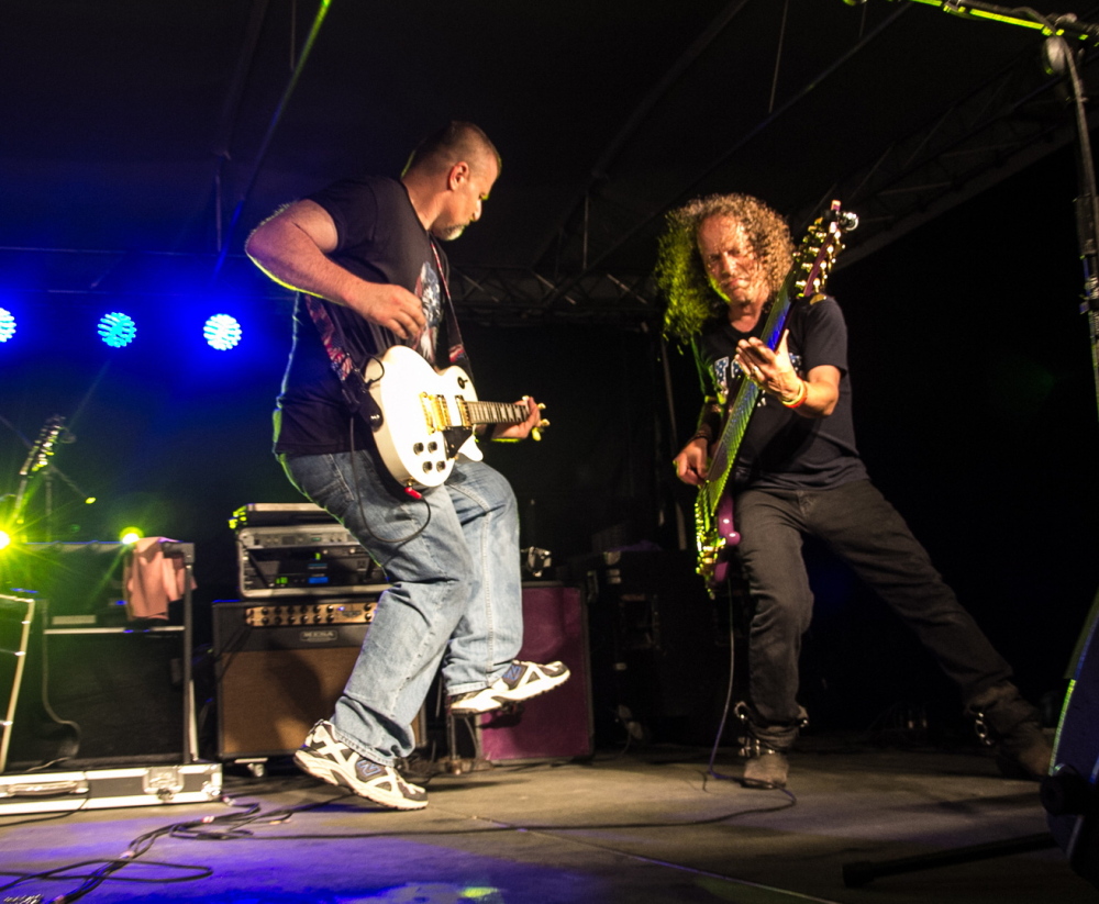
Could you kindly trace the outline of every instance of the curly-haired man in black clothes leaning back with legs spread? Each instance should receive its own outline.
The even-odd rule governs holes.
[[[761,390],[744,414],[725,490],[752,605],[744,783],[786,785],[787,751],[806,717],[797,696],[813,606],[804,535],[822,538],[908,623],[1002,757],[1039,778],[1051,749],[1037,711],[867,478],[855,447],[840,306],[831,298],[801,300],[773,344],[761,335],[770,306],[785,301],[777,295],[789,284],[792,249],[786,224],[765,203],[718,194],[668,215],[657,266],[665,330],[690,343],[706,393],[698,428],[675,458],[680,480],[704,489],[719,477],[709,472],[710,454],[730,433],[726,402],[740,381]]]

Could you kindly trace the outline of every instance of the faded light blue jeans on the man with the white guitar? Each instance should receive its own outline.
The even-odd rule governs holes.
[[[414,746],[412,721],[442,663],[447,693],[500,678],[523,639],[519,509],[502,475],[459,460],[414,500],[374,450],[282,456],[291,482],[385,569],[381,594],[336,702],[336,736],[391,765]]]

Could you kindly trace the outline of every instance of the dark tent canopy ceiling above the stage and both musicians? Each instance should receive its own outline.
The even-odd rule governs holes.
[[[795,231],[840,198],[863,219],[854,259],[1073,134],[1041,32],[910,0],[37,0],[0,19],[0,260],[30,291],[133,291],[151,256],[271,291],[241,256],[257,222],[397,172],[448,119],[504,159],[452,247],[459,298],[550,309],[643,301],[663,214],[696,194],[758,194]]]

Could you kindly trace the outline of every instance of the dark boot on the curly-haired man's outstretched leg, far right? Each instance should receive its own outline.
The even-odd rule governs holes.
[[[1009,778],[1041,781],[1050,773],[1053,748],[1042,717],[1010,681],[993,684],[966,704],[978,737],[997,748],[997,763]]]

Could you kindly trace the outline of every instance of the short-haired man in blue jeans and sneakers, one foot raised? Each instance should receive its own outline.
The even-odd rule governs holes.
[[[428,803],[395,763],[413,749],[412,722],[440,666],[456,714],[499,708],[569,677],[560,662],[514,659],[522,589],[508,481],[459,460],[445,482],[418,489],[390,473],[374,439],[418,416],[421,426],[432,421],[424,445],[443,442],[434,422],[444,412],[429,411],[426,393],[412,387],[413,411],[382,411],[370,390],[392,388],[407,370],[384,355],[395,345],[436,369],[468,368],[437,243],[480,219],[500,165],[480,129],[454,122],[417,148],[400,179],[336,182],[278,211],[246,245],[268,276],[298,290],[275,451],[291,482],[355,535],[391,583],[335,713],[295,760],[398,810]],[[544,425],[533,399],[515,408],[518,423],[497,426],[495,438],[522,439]]]

